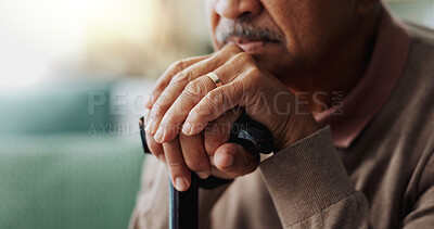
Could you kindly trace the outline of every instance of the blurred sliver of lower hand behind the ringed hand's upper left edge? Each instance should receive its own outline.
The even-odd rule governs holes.
[[[175,64],[170,65],[166,69],[166,72],[164,72],[163,75],[158,78],[156,84],[153,86],[153,88],[151,90],[151,94],[144,101],[144,107],[145,109],[152,107],[152,105],[155,103],[156,99],[158,99],[159,94],[169,85],[171,78],[177,73],[186,69],[187,67],[189,67],[204,59],[207,59],[208,56],[209,55],[194,56],[194,58],[190,58],[190,59],[186,59],[186,60],[176,62]]]

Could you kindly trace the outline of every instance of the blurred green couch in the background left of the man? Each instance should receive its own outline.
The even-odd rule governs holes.
[[[0,91],[1,229],[127,228],[144,158],[141,142],[133,131],[102,131],[101,124],[125,122],[111,115],[110,101],[88,111],[89,92],[110,93],[118,85]]]

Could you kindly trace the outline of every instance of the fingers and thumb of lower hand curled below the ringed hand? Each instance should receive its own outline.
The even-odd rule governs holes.
[[[209,123],[203,135],[186,136],[180,132],[173,142],[164,143],[165,148],[156,143],[153,137],[146,133],[148,147],[154,155],[159,155],[162,162],[169,165],[173,183],[180,191],[190,186],[189,168],[196,171],[203,179],[207,178],[209,174],[224,179],[233,179],[252,173],[256,169],[258,163],[257,157],[245,151],[241,145],[227,143],[232,124],[240,115],[241,110],[228,112]],[[164,151],[168,153],[165,154]],[[181,152],[184,155],[186,164],[183,161],[177,163],[182,158],[173,157],[181,155]],[[213,165],[212,168],[209,162]],[[182,185],[177,180],[178,177],[184,179],[181,180]]]

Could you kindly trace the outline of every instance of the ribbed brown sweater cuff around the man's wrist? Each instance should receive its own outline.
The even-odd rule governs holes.
[[[329,127],[259,165],[283,226],[312,216],[354,191]]]

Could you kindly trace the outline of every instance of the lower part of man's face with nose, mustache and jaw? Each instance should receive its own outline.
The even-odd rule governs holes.
[[[206,0],[215,50],[235,43],[282,78],[339,51],[356,28],[356,0]]]

